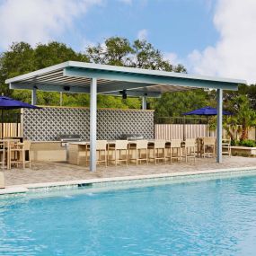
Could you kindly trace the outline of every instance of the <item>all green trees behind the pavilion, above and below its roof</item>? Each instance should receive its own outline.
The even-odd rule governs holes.
[[[89,46],[82,52],[76,52],[66,44],[52,41],[47,44],[39,43],[32,48],[26,42],[15,42],[10,49],[0,55],[0,84],[1,93],[12,96],[24,102],[31,102],[31,91],[9,90],[4,81],[16,75],[22,75],[47,66],[52,66],[67,60],[84,61],[114,66],[131,66],[154,70],[186,73],[186,68],[173,65],[163,57],[159,49],[146,40],[134,40],[121,37],[111,37],[102,44]],[[40,105],[59,105],[59,93],[38,92]],[[62,93],[65,106],[89,106],[89,95]],[[250,110],[256,110],[256,85],[240,85],[238,92],[224,93],[225,109],[237,112],[234,99],[244,95],[248,99]],[[160,99],[150,99],[148,107],[154,109],[157,117],[181,116],[183,112],[204,106],[216,107],[215,90],[191,90],[177,93],[163,93]],[[141,107],[141,100],[121,97],[99,95],[98,107],[102,108],[133,108]],[[234,121],[234,120],[233,120]]]

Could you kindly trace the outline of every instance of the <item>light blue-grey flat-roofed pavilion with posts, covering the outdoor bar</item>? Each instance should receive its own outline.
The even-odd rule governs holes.
[[[235,91],[244,80],[187,75],[166,71],[124,66],[108,66],[67,61],[55,66],[19,75],[5,81],[10,89],[31,90],[32,104],[37,104],[37,90],[59,93],[90,94],[90,170],[96,170],[97,94],[142,97],[146,109],[147,97],[162,93],[197,88],[215,89],[217,95],[216,162],[222,163],[223,90]]]

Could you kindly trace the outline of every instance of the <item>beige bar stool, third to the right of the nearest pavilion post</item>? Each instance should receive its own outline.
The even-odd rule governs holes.
[[[128,146],[128,161],[130,160],[135,160],[136,165],[137,163],[141,163],[143,161],[148,163],[148,158],[147,158],[147,140],[142,139],[142,140],[137,140],[134,141],[134,146]],[[135,158],[133,158],[133,152],[135,151]]]

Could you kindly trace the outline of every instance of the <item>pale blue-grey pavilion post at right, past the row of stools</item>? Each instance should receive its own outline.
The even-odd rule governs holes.
[[[216,163],[222,163],[222,115],[223,90],[217,89],[217,118],[216,118]]]

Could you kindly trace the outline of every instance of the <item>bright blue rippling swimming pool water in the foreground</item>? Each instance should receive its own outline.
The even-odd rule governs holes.
[[[256,176],[0,199],[0,255],[256,255]]]

